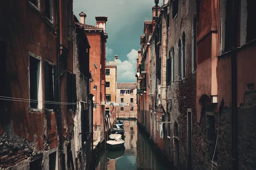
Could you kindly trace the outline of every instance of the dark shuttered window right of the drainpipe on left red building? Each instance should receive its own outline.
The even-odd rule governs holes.
[[[76,74],[67,72],[67,102],[74,103],[67,105],[68,109],[76,109]]]

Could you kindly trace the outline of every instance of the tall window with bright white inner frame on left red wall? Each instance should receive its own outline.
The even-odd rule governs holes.
[[[42,108],[41,60],[29,56],[30,108]]]

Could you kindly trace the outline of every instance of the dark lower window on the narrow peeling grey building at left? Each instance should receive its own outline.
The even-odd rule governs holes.
[[[89,139],[90,131],[90,121],[89,121],[89,111],[81,110],[81,142],[82,144],[86,143]]]

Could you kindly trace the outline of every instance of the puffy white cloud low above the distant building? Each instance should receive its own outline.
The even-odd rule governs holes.
[[[138,52],[132,49],[126,56],[128,60],[117,59],[117,82],[136,82],[136,66]]]

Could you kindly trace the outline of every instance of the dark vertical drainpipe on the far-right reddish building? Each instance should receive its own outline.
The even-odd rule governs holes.
[[[232,164],[233,170],[238,170],[238,140],[237,140],[237,61],[236,61],[236,47],[237,47],[237,0],[233,1],[233,49],[231,52],[231,96],[232,96]]]

